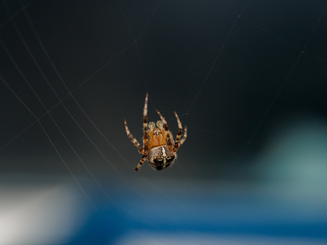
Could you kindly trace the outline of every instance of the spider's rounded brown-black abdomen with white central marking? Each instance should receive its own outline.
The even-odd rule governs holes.
[[[174,163],[176,152],[169,151],[167,145],[152,147],[147,153],[147,161],[151,168],[163,170]]]

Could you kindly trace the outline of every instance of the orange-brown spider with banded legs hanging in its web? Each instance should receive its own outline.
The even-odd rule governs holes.
[[[175,117],[178,123],[178,133],[176,135],[176,140],[174,141],[171,132],[168,129],[168,124],[163,116],[160,114],[158,110],[157,113],[161,119],[158,121],[157,127],[155,126],[154,122],[149,123],[149,129],[147,129],[147,97],[145,97],[144,109],[143,109],[143,129],[144,129],[144,136],[143,136],[143,147],[140,143],[134,138],[134,136],[129,132],[127,122],[125,119],[125,129],[127,136],[134,145],[139,149],[139,153],[143,154],[141,161],[135,167],[135,171],[138,171],[142,164],[144,163],[145,159],[149,163],[150,167],[155,170],[163,170],[166,169],[168,166],[174,163],[174,160],[177,158],[177,150],[178,148],[184,143],[186,139],[187,127],[184,128],[184,136],[181,139],[182,135],[182,124],[177,115],[174,111]]]

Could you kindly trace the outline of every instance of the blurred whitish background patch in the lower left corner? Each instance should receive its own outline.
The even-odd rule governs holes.
[[[0,244],[60,244],[69,239],[83,219],[73,184],[19,182],[0,184]]]

